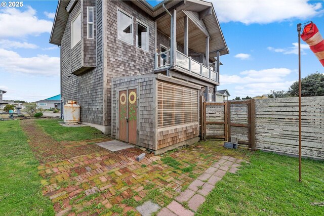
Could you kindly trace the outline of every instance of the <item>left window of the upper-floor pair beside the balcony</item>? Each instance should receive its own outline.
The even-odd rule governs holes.
[[[118,9],[118,39],[133,45],[133,17]]]

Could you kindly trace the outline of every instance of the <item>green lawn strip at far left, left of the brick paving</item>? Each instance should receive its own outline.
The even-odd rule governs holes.
[[[19,120],[0,121],[0,215],[54,215]]]

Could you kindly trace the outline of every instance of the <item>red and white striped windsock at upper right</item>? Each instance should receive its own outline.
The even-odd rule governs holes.
[[[314,23],[305,25],[301,38],[309,45],[309,48],[319,62],[324,66],[324,40]]]

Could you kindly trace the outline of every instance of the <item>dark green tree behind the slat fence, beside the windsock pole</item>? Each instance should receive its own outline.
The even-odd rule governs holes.
[[[301,79],[301,85],[302,97],[324,96],[324,74],[322,73],[316,71],[316,73],[309,74]],[[298,81],[291,85],[288,94],[291,97],[298,96]]]

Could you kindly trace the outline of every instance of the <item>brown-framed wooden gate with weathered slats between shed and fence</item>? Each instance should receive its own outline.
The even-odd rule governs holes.
[[[237,137],[239,144],[255,148],[254,100],[204,102],[202,107],[201,138],[219,138],[227,141]]]

